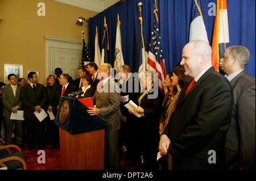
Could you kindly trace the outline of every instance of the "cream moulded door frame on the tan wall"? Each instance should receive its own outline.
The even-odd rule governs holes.
[[[44,38],[46,39],[46,78],[49,74],[55,75],[53,65],[55,52],[68,52],[82,55],[82,41],[47,35],[45,35]]]

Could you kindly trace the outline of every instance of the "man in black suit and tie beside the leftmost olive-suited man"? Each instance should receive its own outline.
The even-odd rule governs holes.
[[[46,124],[45,119],[40,122],[34,112],[40,113],[46,106],[46,90],[42,84],[38,83],[38,75],[34,71],[28,73],[27,78],[30,82],[22,87],[20,98],[24,106],[24,118],[27,120],[28,146],[30,150],[34,148],[34,131],[36,130],[36,142],[41,150]]]

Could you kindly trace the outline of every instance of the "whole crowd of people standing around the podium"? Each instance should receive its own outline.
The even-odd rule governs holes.
[[[31,150],[35,145],[43,149],[46,142],[58,148],[55,121],[49,116],[39,121],[34,112],[44,109],[56,116],[61,96],[80,90],[76,98],[91,97],[96,105],[88,113],[106,120],[105,169],[118,169],[123,149],[127,166],[139,165],[143,158],[146,170],[255,169],[255,78],[244,71],[249,56],[242,46],[226,49],[220,60],[224,76],[212,67],[210,45],[191,41],[180,65],[164,79],[165,95],[153,72],[137,77],[129,65],[121,66],[116,79],[110,64],[90,62],[78,69],[74,81],[56,68],[56,78],[48,75],[46,87],[35,72],[28,73],[29,83],[10,74],[10,84],[1,84],[5,140],[10,144],[15,124],[21,148],[24,138]],[[125,107],[130,101],[142,116]],[[10,119],[17,110],[24,110],[25,121]],[[158,152],[162,157],[157,161]]]

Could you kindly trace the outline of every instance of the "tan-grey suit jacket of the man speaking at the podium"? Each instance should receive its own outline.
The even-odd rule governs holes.
[[[110,90],[110,87],[112,90]],[[93,104],[100,109],[100,116],[106,120],[107,131],[117,131],[121,128],[120,93],[119,87],[112,78],[105,83],[103,91],[95,91],[92,96]]]

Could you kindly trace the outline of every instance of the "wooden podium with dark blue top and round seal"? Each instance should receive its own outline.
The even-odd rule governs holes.
[[[61,97],[55,119],[60,131],[61,169],[104,169],[106,122],[87,110],[77,99]]]

